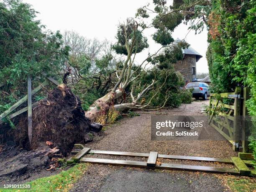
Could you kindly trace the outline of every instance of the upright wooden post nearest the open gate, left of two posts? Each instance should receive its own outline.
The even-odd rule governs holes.
[[[235,89],[235,101],[234,101],[234,125],[233,125],[233,138],[235,138],[235,141],[233,141],[233,150],[238,151],[239,148],[237,146],[237,143],[239,141],[236,141],[236,138],[239,137],[239,130],[241,129],[241,97],[239,98],[238,95],[241,96],[241,87],[236,87]]]

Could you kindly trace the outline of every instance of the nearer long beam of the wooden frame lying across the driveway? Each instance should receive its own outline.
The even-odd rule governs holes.
[[[107,164],[107,165],[117,165],[117,166],[132,166],[132,167],[142,167],[149,168],[146,162],[143,161],[125,161],[125,160],[115,160],[115,159],[95,159],[95,158],[82,158],[81,162],[92,163],[92,164]],[[187,170],[187,171],[202,171],[202,172],[213,172],[213,173],[230,173],[239,175],[236,169],[230,168],[220,168],[220,167],[210,167],[210,166],[195,166],[195,165],[181,165],[181,164],[161,164],[156,165],[154,169],[177,169],[177,170]]]

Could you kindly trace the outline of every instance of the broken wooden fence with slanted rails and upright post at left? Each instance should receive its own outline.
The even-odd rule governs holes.
[[[24,97],[22,97],[18,102],[16,102],[15,104],[13,104],[10,108],[8,108],[8,110],[6,110],[5,112],[3,112],[0,115],[0,124],[3,123],[2,119],[5,117],[8,117],[9,119],[12,119],[18,115],[20,115],[21,113],[24,113],[26,111],[28,111],[28,138],[29,138],[29,142],[31,142],[32,139],[32,108],[35,107],[38,102],[34,102],[32,104],[32,96],[35,95],[38,91],[40,91],[42,89],[42,87],[46,86],[47,84],[49,84],[49,82],[55,84],[56,86],[59,85],[59,83],[54,80],[52,77],[47,77],[46,73],[42,73],[42,75],[45,77],[45,81],[42,82],[38,87],[36,87],[35,89],[31,90],[31,77],[28,75],[27,77],[27,82],[28,82],[28,94],[25,95]],[[2,87],[4,84],[0,83],[0,87]],[[27,107],[20,109],[18,111],[16,111],[15,113],[12,113],[16,108],[18,108],[21,104],[23,104],[24,102],[28,102]],[[10,114],[12,113],[12,114]]]

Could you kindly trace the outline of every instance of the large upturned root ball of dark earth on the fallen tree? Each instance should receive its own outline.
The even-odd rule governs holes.
[[[89,132],[90,119],[84,116],[81,101],[69,87],[60,85],[48,93],[48,97],[41,100],[33,108],[33,138],[31,149],[36,149],[46,141],[52,141],[66,156],[74,143],[84,140]],[[27,118],[20,118],[15,141],[21,147],[28,148]]]

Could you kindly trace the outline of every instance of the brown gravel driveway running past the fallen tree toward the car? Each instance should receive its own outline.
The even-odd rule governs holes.
[[[202,105],[208,105],[209,100],[194,101],[183,104],[173,110],[162,110],[160,113],[169,115],[202,115]],[[159,154],[174,154],[186,156],[205,156],[230,158],[237,156],[232,151],[228,141],[151,141],[151,115],[141,113],[133,118],[123,118],[109,126],[104,136],[95,138],[86,147],[93,150],[129,151]],[[95,158],[106,158],[103,155],[93,155]],[[108,156],[109,159],[130,159],[129,157]],[[133,158],[133,160],[138,160]],[[141,160],[141,159],[140,159]],[[146,161],[146,159],[144,159]],[[171,160],[177,164],[187,164],[186,161]],[[192,161],[189,161],[191,164]],[[170,162],[172,163],[172,162]],[[203,166],[222,166],[209,162],[193,161],[192,164]],[[215,174],[151,170],[131,167],[88,164],[84,176],[74,185],[71,191],[223,191],[228,190]]]

